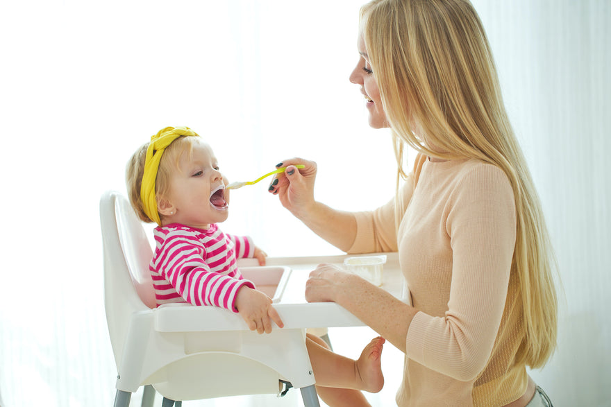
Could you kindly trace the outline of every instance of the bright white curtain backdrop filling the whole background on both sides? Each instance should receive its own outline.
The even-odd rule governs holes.
[[[0,6],[2,407],[112,403],[98,199],[106,189],[124,192],[126,160],[160,128],[188,125],[208,138],[231,180],[301,156],[319,164],[317,198],[330,206],[369,209],[392,196],[389,134],[367,127],[348,81],[361,3]],[[533,376],[555,406],[608,405],[610,3],[474,5],[564,285],[558,353]],[[272,256],[339,253],[266,187],[232,194],[224,230],[250,234]],[[385,364],[399,374],[391,359]],[[379,405],[392,402],[389,379]]]

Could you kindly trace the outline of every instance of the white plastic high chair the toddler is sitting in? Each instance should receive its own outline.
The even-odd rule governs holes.
[[[285,328],[274,325],[271,334],[250,331],[240,315],[215,306],[156,308],[151,246],[126,198],[103,194],[100,220],[106,319],[118,371],[115,407],[128,406],[140,386],[152,385],[164,403],[174,404],[278,394],[279,380],[300,388],[305,406],[319,406],[305,329],[286,324],[291,304],[284,313],[276,305]]]

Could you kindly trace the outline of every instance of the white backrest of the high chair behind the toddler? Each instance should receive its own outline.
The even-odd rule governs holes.
[[[149,272],[153,252],[142,223],[120,193],[103,194],[100,223],[106,320],[118,367],[131,314],[156,306]]]

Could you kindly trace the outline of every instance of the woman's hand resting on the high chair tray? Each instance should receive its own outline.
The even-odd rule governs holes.
[[[305,300],[308,302],[338,302],[349,291],[350,279],[355,275],[333,264],[322,263],[310,272],[305,283]]]

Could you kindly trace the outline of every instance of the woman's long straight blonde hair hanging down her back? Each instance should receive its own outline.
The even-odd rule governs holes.
[[[478,159],[508,176],[517,214],[512,273],[524,313],[517,363],[542,367],[556,346],[555,260],[476,11],[468,0],[374,0],[363,6],[361,20],[399,173],[405,175],[408,145],[442,159]]]

